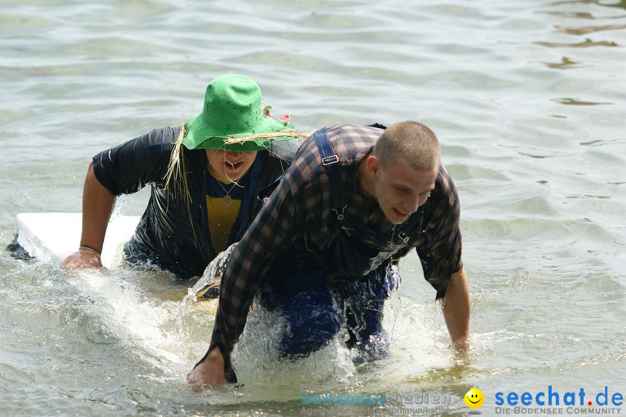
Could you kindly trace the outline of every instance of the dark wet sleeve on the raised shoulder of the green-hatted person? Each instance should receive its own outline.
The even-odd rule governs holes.
[[[97,180],[114,196],[132,194],[147,184],[163,182],[170,158],[172,136],[154,129],[93,157]]]

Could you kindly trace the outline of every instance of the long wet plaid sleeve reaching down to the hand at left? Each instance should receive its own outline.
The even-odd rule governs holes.
[[[230,353],[246,325],[248,310],[276,255],[289,249],[298,230],[294,189],[284,178],[234,249],[220,285],[209,350],[218,347],[230,368]]]

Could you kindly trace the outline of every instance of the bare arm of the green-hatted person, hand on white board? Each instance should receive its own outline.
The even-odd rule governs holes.
[[[69,255],[62,266],[70,269],[102,267],[100,253],[104,244],[106,226],[115,204],[115,196],[104,188],[93,172],[93,162],[89,164],[83,185],[83,230],[81,246]]]

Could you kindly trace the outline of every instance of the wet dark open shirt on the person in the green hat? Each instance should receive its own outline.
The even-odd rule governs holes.
[[[182,278],[202,275],[216,256],[209,233],[206,196],[209,190],[207,157],[204,150],[184,148],[189,200],[180,192],[180,184],[165,189],[165,176],[180,128],[154,129],[143,136],[104,150],[93,157],[98,181],[115,196],[131,194],[150,185],[147,208],[130,243],[141,248],[147,258],[159,267],[169,269]],[[275,145],[278,144],[278,145]],[[259,151],[257,178],[250,198],[241,207],[230,243],[241,238],[255,218],[261,203],[257,192],[278,178],[289,166],[297,145],[272,142],[270,150]]]

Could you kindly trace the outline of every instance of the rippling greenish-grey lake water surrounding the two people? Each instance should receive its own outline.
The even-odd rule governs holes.
[[[331,391],[386,395],[359,414],[490,416],[498,392],[626,396],[625,46],[623,0],[0,0],[3,245],[20,212],[81,210],[95,153],[179,125],[212,78],[246,74],[303,132],[408,119],[438,134],[474,340],[455,358],[412,254],[387,306],[389,359],[355,367],[335,343],[277,361],[275,317],[257,312],[236,352],[243,386],[195,392],[214,306],[179,324],[186,286],[168,274],[65,274],[2,251],[0,415],[300,416]]]

